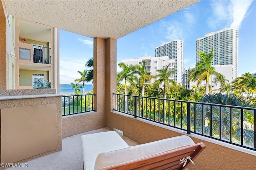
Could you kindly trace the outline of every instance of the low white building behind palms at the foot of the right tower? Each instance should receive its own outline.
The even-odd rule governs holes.
[[[228,80],[228,83],[230,83],[233,79],[232,79],[232,67],[233,65],[214,65],[214,70],[217,71],[218,73],[224,75],[225,79]],[[197,84],[197,82],[195,81],[188,81],[188,72],[193,69],[194,66],[192,67],[186,67],[183,70],[183,81],[182,81],[182,85],[186,86],[187,89],[192,89],[192,86]],[[205,80],[202,81],[202,83],[199,85],[200,86],[205,86]],[[210,80],[209,80],[209,85],[211,85],[211,90],[214,92],[218,92],[220,89],[220,83],[216,83],[215,82],[215,76],[214,75],[210,75]]]

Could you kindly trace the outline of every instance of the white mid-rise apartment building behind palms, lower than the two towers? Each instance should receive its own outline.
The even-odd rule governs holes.
[[[169,59],[168,56],[163,57],[142,57],[136,59],[123,59],[126,65],[142,65],[142,61],[145,61],[145,70],[148,71],[150,75],[157,75],[158,72],[156,70],[163,69],[166,65],[169,65],[169,70],[174,70],[175,60]],[[171,75],[170,79],[174,80],[174,74]],[[152,79],[151,83],[154,83],[156,79]],[[150,82],[146,82],[146,84],[150,84]],[[161,85],[163,87],[163,83]]]

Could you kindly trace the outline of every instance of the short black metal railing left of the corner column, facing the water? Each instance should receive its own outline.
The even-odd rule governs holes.
[[[95,111],[95,94],[62,96],[62,116]]]

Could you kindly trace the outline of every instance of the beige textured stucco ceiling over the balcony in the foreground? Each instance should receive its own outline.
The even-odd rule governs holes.
[[[120,38],[199,0],[5,0],[7,13],[91,38]]]

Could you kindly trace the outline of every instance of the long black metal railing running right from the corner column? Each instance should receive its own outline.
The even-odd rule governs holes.
[[[256,151],[256,108],[113,95],[114,111]]]

